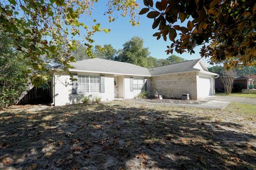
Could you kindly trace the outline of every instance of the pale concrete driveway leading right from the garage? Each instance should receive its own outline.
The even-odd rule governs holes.
[[[235,97],[235,96],[209,96],[206,99],[256,105],[256,98]]]

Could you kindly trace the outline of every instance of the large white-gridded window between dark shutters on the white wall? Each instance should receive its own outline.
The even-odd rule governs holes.
[[[100,92],[100,77],[92,75],[78,75],[77,91],[80,94]]]

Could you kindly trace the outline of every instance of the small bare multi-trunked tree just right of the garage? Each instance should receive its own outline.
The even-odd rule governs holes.
[[[235,72],[232,69],[223,69],[220,76],[220,80],[224,84],[226,95],[229,95],[233,89],[233,83],[235,79]]]

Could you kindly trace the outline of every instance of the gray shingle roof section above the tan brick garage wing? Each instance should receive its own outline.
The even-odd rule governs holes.
[[[169,73],[179,73],[179,72],[187,72],[187,71],[198,71],[198,69],[194,69],[193,67],[198,63],[201,59],[190,60],[181,63],[175,63],[170,65],[164,65],[159,67],[154,67],[148,69],[151,75],[161,75],[161,74],[169,74]]]

